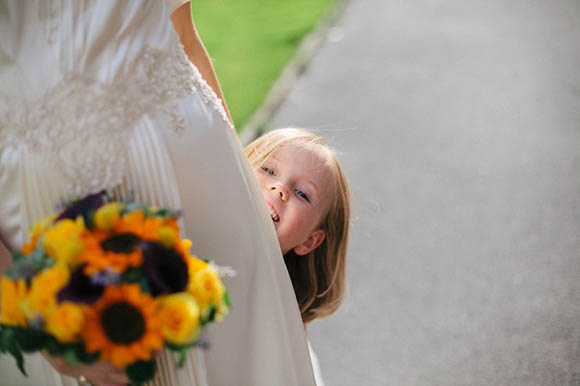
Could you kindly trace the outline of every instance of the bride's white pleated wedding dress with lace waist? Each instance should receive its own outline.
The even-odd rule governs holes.
[[[194,253],[237,271],[233,309],[185,369],[160,359],[155,384],[314,385],[261,192],[172,28],[176,6],[0,0],[0,237],[17,249],[59,200],[101,189],[182,208]],[[0,385],[76,385],[38,355],[26,368],[0,357]]]

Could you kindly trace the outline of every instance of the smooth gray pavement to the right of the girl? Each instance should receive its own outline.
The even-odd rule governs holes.
[[[352,0],[270,126],[350,178],[327,386],[580,385],[580,1]]]

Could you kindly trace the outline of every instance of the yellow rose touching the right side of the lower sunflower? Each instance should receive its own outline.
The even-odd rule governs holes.
[[[193,297],[181,292],[157,301],[163,338],[173,344],[192,343],[199,336],[199,307]]]

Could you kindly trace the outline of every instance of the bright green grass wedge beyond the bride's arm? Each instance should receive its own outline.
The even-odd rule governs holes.
[[[241,129],[336,0],[195,0],[192,14]]]

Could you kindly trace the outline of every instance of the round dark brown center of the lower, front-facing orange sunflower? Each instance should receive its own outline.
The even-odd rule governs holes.
[[[107,337],[116,344],[131,344],[145,334],[141,311],[125,302],[112,303],[101,312],[101,325]]]

